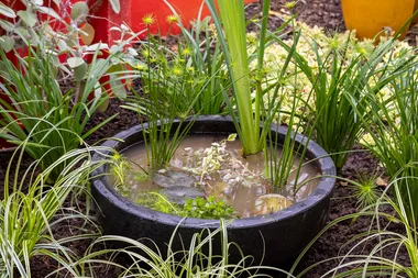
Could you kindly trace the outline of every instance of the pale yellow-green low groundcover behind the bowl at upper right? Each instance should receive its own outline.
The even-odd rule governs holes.
[[[289,16],[283,15],[284,19],[288,19]],[[373,40],[364,40],[364,41],[358,41],[355,37],[355,31],[350,32],[346,31],[344,33],[336,33],[333,35],[328,35],[323,31],[323,29],[318,26],[308,26],[304,22],[295,21],[293,23],[294,29],[296,31],[300,31],[302,33],[302,38],[298,42],[297,53],[302,57],[308,66],[311,67],[312,73],[317,74],[318,68],[318,57],[324,60],[326,56],[328,56],[333,49],[342,49],[346,46],[346,53],[345,58],[346,60],[350,60],[356,56],[363,56],[364,58],[367,58],[376,48],[377,45],[374,44]],[[389,38],[381,37],[381,43],[386,42]],[[251,45],[249,52],[254,52],[254,47],[256,47],[256,35],[254,33],[248,34],[248,42],[249,45]],[[287,44],[288,46],[292,46],[294,43],[294,36],[289,36],[288,38],[284,38],[283,42]],[[312,47],[312,42],[315,42],[315,47]],[[402,41],[394,41],[393,51],[388,52],[386,55],[384,55],[382,63],[378,65],[378,67],[384,67],[385,63],[389,59],[405,59],[407,57],[411,57],[413,47],[409,46],[406,42]],[[319,56],[317,56],[316,52],[318,52]],[[265,59],[264,59],[264,73],[267,75],[268,78],[266,80],[274,81],[277,78],[277,73],[280,69],[282,65],[285,63],[286,57],[288,55],[288,51],[286,51],[285,47],[282,47],[277,43],[270,43],[268,46],[265,49]],[[345,67],[346,63],[343,64],[343,67]],[[254,70],[256,68],[257,64],[255,60],[251,63],[251,68]],[[297,65],[294,63],[290,63],[288,66],[288,71],[294,73],[295,67]],[[329,75],[329,73],[327,73]],[[373,80],[371,80],[373,84]],[[265,85],[267,86],[267,85]],[[297,98],[301,98],[302,102],[300,102],[300,105],[306,103],[309,103],[309,107],[315,108],[315,91],[312,91],[312,84],[309,80],[309,77],[306,75],[298,75],[297,79],[287,79],[285,84],[285,89],[287,93],[286,97],[283,99],[282,102],[282,110],[283,111],[292,111],[293,108],[293,99],[294,94],[293,91],[300,91],[301,93],[297,96]],[[310,93],[312,91],[312,93]],[[392,96],[392,91],[388,87],[384,87],[378,91],[378,94],[382,97],[382,99],[387,99]],[[267,96],[266,96],[267,97]],[[305,113],[308,113],[309,111],[304,110],[302,107],[298,109],[299,111],[304,111]],[[299,120],[299,118],[295,119],[296,123]],[[280,123],[288,124],[289,120],[288,118],[283,114],[280,119],[277,119]]]

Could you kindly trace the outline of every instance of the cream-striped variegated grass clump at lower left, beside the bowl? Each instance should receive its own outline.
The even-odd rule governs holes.
[[[65,243],[80,241],[98,234],[85,233],[55,240],[53,230],[65,221],[81,220],[89,222],[86,215],[74,208],[66,208],[70,192],[82,189],[101,162],[92,162],[89,149],[77,149],[57,158],[56,162],[38,173],[40,160],[28,169],[21,168],[22,149],[18,148],[6,171],[4,194],[0,202],[0,277],[31,277],[31,258],[43,255],[53,258],[66,273],[80,277],[72,264],[75,254],[65,247]],[[15,171],[12,171],[15,165]],[[62,167],[66,165],[66,167]],[[46,185],[54,169],[61,174],[53,186]],[[91,224],[91,223],[90,223]]]

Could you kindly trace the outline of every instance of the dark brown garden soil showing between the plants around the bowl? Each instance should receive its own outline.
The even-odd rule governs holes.
[[[279,12],[283,9],[285,0],[272,0],[272,10]],[[261,4],[252,4],[246,13],[248,16],[260,15]],[[295,7],[295,12],[298,13],[298,20],[308,23],[309,25],[318,25],[326,29],[328,33],[342,32],[344,31],[344,23],[341,13],[340,0],[301,0]],[[282,24],[278,16],[272,13],[272,22],[270,27],[274,29]],[[415,31],[408,33],[407,38],[411,44],[415,44]],[[111,137],[120,131],[128,130],[129,127],[139,123],[139,118],[135,113],[131,111],[123,110],[119,108],[121,102],[117,99],[112,99],[106,112],[96,113],[90,122],[89,126],[101,123],[108,116],[118,114],[111,122],[100,129],[100,131],[92,134],[88,143],[94,144],[100,140]],[[358,149],[359,151],[359,149]],[[6,168],[11,159],[11,153],[0,154],[0,180],[4,180]],[[24,170],[32,163],[32,159],[28,156],[23,156],[23,162],[21,164],[21,169]],[[15,164],[13,164],[15,165]],[[12,166],[12,170],[15,166]],[[13,173],[13,171],[12,171]],[[381,174],[382,169],[378,166],[378,162],[367,152],[355,152],[352,153],[346,162],[346,165],[341,171],[341,176],[350,179],[359,179],[360,176]],[[1,182],[2,184],[2,182]],[[384,182],[383,182],[384,184]],[[381,189],[384,189],[381,188]],[[0,193],[2,196],[3,188],[0,188]],[[331,208],[329,213],[329,222],[336,219],[348,215],[350,213],[358,212],[358,199],[354,197],[354,190],[352,186],[346,182],[338,182],[334,190],[334,196],[331,200]],[[68,203],[67,205],[74,205]],[[82,199],[79,200],[78,205],[85,210],[85,204]],[[81,227],[74,229],[74,227]],[[373,227],[373,226],[372,226]],[[328,231],[326,231],[318,241],[311,246],[307,254],[302,257],[298,269],[305,269],[312,266],[319,262],[327,260],[332,257],[345,254],[352,245],[344,246],[349,240],[353,236],[359,235],[361,232],[365,232],[371,229],[371,219],[359,218],[355,221],[346,220],[332,225]],[[391,231],[402,233],[402,226],[392,224],[388,227]],[[54,236],[56,238],[63,238],[66,236],[72,236],[75,233],[81,233],[85,230],[91,230],[92,226],[85,225],[82,221],[67,221],[54,227]],[[75,254],[82,256],[86,248],[89,246],[91,241],[85,240],[82,242],[72,242],[67,246],[74,251]],[[374,247],[373,242],[362,245],[356,248],[356,254],[369,254]],[[396,249],[393,248],[388,251],[385,256],[393,258],[395,256]],[[279,254],[278,254],[279,255]],[[407,253],[404,249],[397,254],[398,262],[402,264],[408,264]],[[327,274],[329,269],[338,266],[339,260],[328,260],[320,264],[318,267],[314,268],[311,271],[306,274],[304,277],[321,277]],[[44,256],[35,256],[31,262],[32,277],[33,278],[44,278],[47,274],[57,268],[57,264],[52,259]],[[95,270],[96,277],[100,278],[113,278],[118,277],[118,269],[107,268],[105,266],[98,266]],[[332,274],[328,274],[324,277],[330,277]],[[54,277],[54,276],[53,276]]]

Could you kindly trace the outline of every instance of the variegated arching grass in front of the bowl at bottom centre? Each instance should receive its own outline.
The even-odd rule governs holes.
[[[228,277],[277,277],[286,271],[263,266],[251,266],[252,258],[242,254],[237,264],[229,263],[230,249],[239,248],[228,241],[227,224],[221,221],[219,229],[215,231],[202,230],[196,233],[183,251],[172,249],[173,241],[177,237],[177,231],[173,233],[168,243],[167,254],[162,254],[155,243],[148,238],[134,241],[122,236],[102,236],[98,238],[87,251],[87,254],[77,264],[95,267],[95,264],[109,264],[119,267],[122,274],[119,277],[152,277],[152,278],[228,278]],[[128,247],[122,249],[96,251],[96,245],[102,243],[118,243]],[[220,246],[216,246],[220,244]],[[215,254],[215,249],[220,253]],[[132,264],[128,266],[116,262],[100,259],[103,255],[112,257],[120,254],[128,255]],[[87,267],[81,267],[87,268]],[[263,270],[270,270],[275,275],[264,275]]]

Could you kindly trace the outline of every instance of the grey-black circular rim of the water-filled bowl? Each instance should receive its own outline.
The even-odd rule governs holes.
[[[194,125],[205,124],[205,122],[230,124],[232,120],[230,116],[200,115],[195,119]],[[262,126],[262,123],[261,123],[261,126]],[[127,138],[128,136],[132,136],[132,134],[142,132],[144,127],[146,127],[146,125],[135,125],[129,130],[118,133],[113,137],[123,140],[123,138]],[[272,131],[278,132],[279,134],[286,134],[286,131],[287,131],[286,126],[278,126],[278,125],[272,125],[271,129]],[[231,133],[233,132],[234,131],[231,131]],[[212,133],[216,133],[216,132],[212,132]],[[296,133],[296,142],[298,144],[306,144],[306,137],[304,137],[301,134]],[[116,148],[116,149],[125,149],[129,146],[134,145],[134,144],[131,144],[129,146],[119,147],[121,145],[123,146],[124,143],[125,142],[108,140],[103,144],[101,144],[101,146]],[[336,177],[334,177],[337,175],[336,166],[332,159],[329,157],[328,153],[312,140],[310,140],[308,143],[307,152],[309,153],[309,156],[312,159],[316,159],[317,167],[320,171],[320,175],[322,176],[318,182],[317,188],[314,189],[314,191],[308,197],[278,212],[273,212],[270,214],[257,215],[257,216],[245,218],[245,219],[233,219],[232,223],[228,225],[228,229],[234,230],[234,229],[256,227],[256,226],[262,226],[268,223],[290,219],[295,215],[304,213],[310,208],[317,205],[322,199],[326,199],[327,197],[329,197],[332,193],[333,187],[336,185]],[[99,160],[101,159],[102,154],[108,155],[109,153],[110,153],[110,149],[103,151],[100,154],[96,153],[94,154],[92,159]],[[110,203],[112,203],[112,205],[116,205],[117,208],[124,211],[125,213],[132,214],[136,218],[143,218],[151,221],[157,221],[162,224],[169,225],[173,227],[180,225],[182,227],[190,227],[190,229],[196,229],[196,227],[217,229],[220,225],[219,223],[220,221],[215,220],[215,219],[208,220],[208,219],[196,219],[196,218],[182,218],[178,215],[167,214],[167,213],[154,211],[148,208],[139,205],[130,201],[129,199],[123,198],[117,190],[114,190],[111,186],[109,186],[107,182],[108,178],[106,175],[103,175],[105,171],[106,171],[106,166],[102,165],[98,167],[98,169],[96,169],[91,174],[92,186],[98,192],[100,192],[101,196],[103,196]]]

